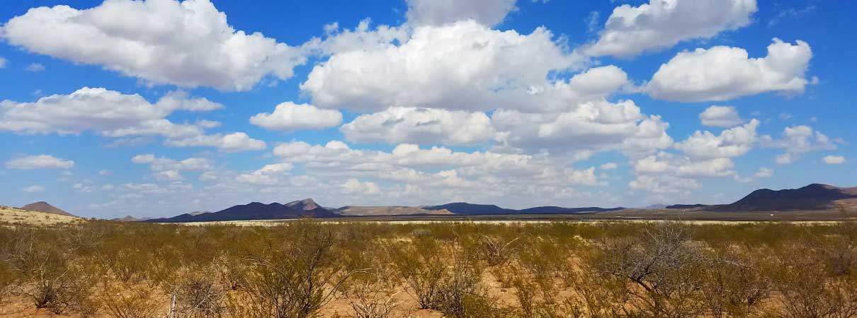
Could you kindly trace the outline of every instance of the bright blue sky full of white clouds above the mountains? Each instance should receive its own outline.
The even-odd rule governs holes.
[[[0,204],[99,218],[731,203],[857,185],[857,4],[33,0]]]

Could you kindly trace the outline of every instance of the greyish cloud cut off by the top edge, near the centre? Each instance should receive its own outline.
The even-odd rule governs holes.
[[[494,26],[517,9],[516,0],[407,0],[408,23],[414,26],[440,26],[462,20],[474,20]]]

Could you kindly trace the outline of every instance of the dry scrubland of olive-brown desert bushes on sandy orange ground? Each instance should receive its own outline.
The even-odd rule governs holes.
[[[84,317],[857,318],[855,267],[854,222],[0,227],[0,306]]]

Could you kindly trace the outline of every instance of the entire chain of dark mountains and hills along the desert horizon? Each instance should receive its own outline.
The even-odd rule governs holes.
[[[798,189],[770,190],[759,189],[752,191],[746,197],[729,204],[654,204],[644,209],[654,210],[692,210],[708,212],[754,212],[754,211],[814,211],[836,209],[837,206],[857,208],[857,187],[837,187],[834,185],[812,184]],[[55,215],[71,215],[69,212],[54,207],[50,203],[39,201],[27,204],[21,209],[50,213]],[[148,222],[206,222],[206,221],[250,221],[250,220],[282,220],[303,217],[337,218],[360,216],[444,216],[444,215],[572,215],[598,214],[625,208],[564,208],[556,206],[539,206],[528,209],[506,209],[494,204],[475,203],[446,203],[424,206],[344,206],[341,208],[325,208],[311,198],[292,201],[290,203],[249,203],[236,205],[217,212],[190,212],[168,218],[142,218],[125,216],[114,221],[148,221]],[[634,210],[634,209],[631,209]]]

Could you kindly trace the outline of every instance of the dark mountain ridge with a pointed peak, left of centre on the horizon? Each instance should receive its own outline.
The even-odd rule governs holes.
[[[321,208],[312,199],[290,203],[249,203],[236,205],[218,212],[201,215],[183,214],[164,219],[152,219],[149,222],[207,222],[207,221],[250,221],[297,219],[305,216],[315,218],[338,217],[339,215]]]

